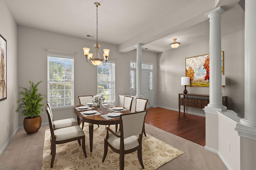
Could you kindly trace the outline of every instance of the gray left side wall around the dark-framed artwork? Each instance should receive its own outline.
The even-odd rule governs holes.
[[[17,90],[17,25],[4,0],[0,0],[0,34],[6,39],[7,99],[0,101],[0,154],[9,139],[18,130],[18,113],[15,113]]]

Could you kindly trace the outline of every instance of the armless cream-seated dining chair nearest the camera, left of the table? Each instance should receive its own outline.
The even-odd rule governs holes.
[[[77,140],[79,145],[81,146],[80,140],[82,139],[82,149],[84,152],[84,156],[87,157],[86,150],[85,150],[85,135],[84,135],[84,131],[80,128],[80,126],[76,125],[76,126],[70,126],[70,127],[63,127],[63,128],[54,130],[52,116],[50,115],[51,114],[50,107],[46,105],[45,109],[48,115],[50,132],[51,132],[51,138],[50,138],[51,154],[52,154],[51,168],[54,163],[57,144],[63,144],[63,143],[68,143],[68,142]]]

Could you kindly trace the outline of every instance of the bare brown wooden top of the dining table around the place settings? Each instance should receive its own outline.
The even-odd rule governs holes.
[[[110,120],[107,120],[104,117],[101,117],[100,115],[92,115],[92,116],[84,117],[84,115],[82,115],[82,113],[80,113],[80,112],[87,111],[87,110],[78,111],[76,109],[76,107],[79,107],[79,106],[84,106],[84,105],[75,106],[74,107],[74,112],[84,122],[88,122],[88,123],[92,123],[92,124],[98,124],[98,125],[115,125],[115,124],[119,124],[119,121],[120,121],[119,117],[117,117],[115,119],[110,119]],[[96,111],[99,112],[100,111],[100,107],[95,107],[92,110],[96,110]],[[104,113],[101,113],[102,115],[106,115],[106,114],[109,113],[108,107],[103,107],[102,111],[104,112]],[[127,114],[127,113],[131,113],[131,111],[129,111],[129,110],[127,110],[127,111],[120,111],[120,113]]]

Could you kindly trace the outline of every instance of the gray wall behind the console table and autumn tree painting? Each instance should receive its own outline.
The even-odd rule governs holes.
[[[228,109],[244,117],[244,30],[222,35],[224,51],[224,74],[226,86],[222,88],[228,96]],[[191,44],[158,54],[158,104],[178,110],[178,93],[184,86],[180,77],[185,76],[185,59],[209,53],[209,40]],[[187,87],[188,93],[209,94],[209,87]],[[182,107],[183,108],[183,107]],[[191,113],[204,115],[202,109],[186,107]]]

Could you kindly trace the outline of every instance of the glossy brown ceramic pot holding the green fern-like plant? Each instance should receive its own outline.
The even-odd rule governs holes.
[[[40,129],[41,123],[42,123],[41,116],[38,116],[36,118],[25,117],[23,121],[24,129],[26,133],[36,133]]]

